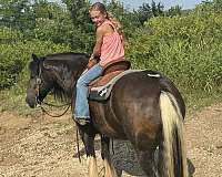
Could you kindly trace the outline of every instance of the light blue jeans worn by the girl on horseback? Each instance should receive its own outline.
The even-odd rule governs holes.
[[[89,71],[83,72],[77,81],[77,97],[74,106],[74,118],[90,118],[90,110],[88,103],[89,83],[102,74],[102,66],[98,63]]]

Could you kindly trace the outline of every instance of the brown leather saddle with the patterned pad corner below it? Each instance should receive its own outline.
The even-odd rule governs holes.
[[[125,60],[108,63],[101,76],[89,84],[89,100],[104,101],[109,97],[114,83],[129,70],[131,63]]]

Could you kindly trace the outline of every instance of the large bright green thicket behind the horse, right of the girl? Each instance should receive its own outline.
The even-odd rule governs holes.
[[[181,87],[211,92],[222,83],[221,21],[222,14],[205,6],[184,17],[152,18],[130,40],[129,58]]]

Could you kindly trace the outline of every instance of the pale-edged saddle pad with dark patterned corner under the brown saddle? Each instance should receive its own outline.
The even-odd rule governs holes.
[[[90,88],[89,93],[89,100],[92,101],[105,101],[110,96],[110,93],[112,91],[113,85],[117,83],[118,80],[120,80],[123,75],[127,75],[129,73],[139,72],[141,70],[127,70],[114,76],[112,80],[110,80],[105,85],[102,86],[95,86]]]

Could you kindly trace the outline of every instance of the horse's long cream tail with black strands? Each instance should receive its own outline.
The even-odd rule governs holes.
[[[161,92],[160,108],[163,124],[162,173],[167,177],[188,177],[183,117],[174,96]],[[159,156],[160,157],[160,156]]]

